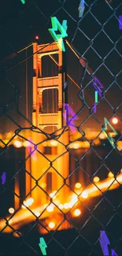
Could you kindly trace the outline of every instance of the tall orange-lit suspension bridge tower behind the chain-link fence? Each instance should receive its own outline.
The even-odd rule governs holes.
[[[65,42],[64,42],[65,43]],[[56,130],[63,128],[66,124],[63,113],[65,113],[65,103],[67,103],[68,86],[66,74],[66,58],[65,52],[62,52],[57,43],[52,44],[33,44],[33,110],[32,124],[43,131],[45,127],[55,126]],[[58,74],[57,76],[43,77],[43,61],[42,59],[48,55],[53,58],[53,55],[58,56]],[[43,93],[45,90],[57,89],[57,113],[43,113]],[[65,113],[66,114],[66,113]],[[68,130],[68,129],[67,129]],[[38,131],[39,132],[39,131]],[[63,184],[64,179],[69,173],[69,154],[65,149],[68,144],[68,131],[63,132],[59,137],[58,142],[50,141],[46,135],[41,132],[31,132],[31,141],[35,144],[40,143],[35,151],[35,158],[31,155],[31,160],[26,162],[26,169],[38,181],[39,186],[35,184],[35,180],[26,174],[26,195],[31,191],[31,197],[34,198],[35,205],[41,206],[49,200],[49,197],[40,187],[50,194],[52,191],[57,191]],[[61,134],[62,129],[57,132]],[[55,133],[56,135],[56,133]],[[44,141],[44,143],[43,143]],[[50,147],[50,153],[46,152],[46,147],[50,143],[55,143],[56,147]],[[49,153],[49,154],[48,154]],[[65,154],[64,154],[65,153]],[[63,155],[61,155],[63,154]],[[51,162],[51,164],[50,164]],[[45,173],[46,172],[46,173]],[[57,173],[58,172],[58,173]],[[67,184],[68,180],[66,181]],[[65,185],[60,193],[60,202],[65,202],[68,187]],[[64,197],[65,195],[65,197]]]

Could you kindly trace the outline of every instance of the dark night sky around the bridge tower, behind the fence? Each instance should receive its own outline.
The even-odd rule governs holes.
[[[82,124],[86,120],[82,125],[84,131],[87,128],[92,131],[100,131],[100,124],[104,123],[104,117],[109,119],[116,113],[119,123],[115,128],[118,131],[122,130],[122,31],[119,29],[117,20],[122,15],[122,2],[112,0],[110,4],[107,4],[105,0],[87,0],[81,20],[79,19],[79,1],[77,0],[25,0],[25,2],[26,4],[23,5],[20,0],[4,1],[0,9],[0,113],[2,113],[3,106],[9,104],[10,109],[7,114],[21,127],[29,126],[21,115],[21,113],[26,115],[25,61],[20,65],[15,65],[24,60],[26,53],[25,50],[20,54],[16,53],[24,46],[35,42],[35,35],[39,35],[39,43],[54,42],[48,28],[52,28],[50,18],[57,17],[61,23],[63,20],[67,20],[68,37],[66,39],[72,43],[72,47],[79,56],[87,59],[88,65],[94,71],[94,76],[101,81],[104,87],[103,91],[105,91],[105,98],[102,98],[97,106],[97,113],[94,114],[94,117],[97,118],[95,120],[87,108],[87,106],[90,108],[94,106],[94,87],[91,77],[86,74],[83,87],[85,87],[84,96],[87,106],[78,114],[79,120],[76,121],[76,125]],[[79,84],[83,76],[83,68],[72,51],[68,47],[66,50],[68,74]],[[12,54],[11,58],[6,58],[10,54]],[[28,57],[31,56],[32,47],[28,48],[27,54]],[[15,66],[13,67],[13,65]],[[31,57],[28,58],[29,119],[31,119],[32,75]],[[43,58],[43,76],[56,75],[57,67],[53,61],[49,57]],[[20,113],[17,113],[15,102],[14,104],[9,103],[11,99],[15,99],[15,87],[19,87],[20,91],[17,100]],[[83,102],[78,98],[78,93],[79,88],[68,79],[68,104],[75,113],[83,106]],[[99,96],[98,98],[100,99]],[[14,131],[17,124],[2,114],[0,133]]]

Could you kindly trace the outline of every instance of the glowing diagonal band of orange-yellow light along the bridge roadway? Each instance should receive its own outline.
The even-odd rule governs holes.
[[[120,174],[116,176],[116,180],[118,180],[118,182],[120,184],[122,184],[122,169],[120,169]],[[94,184],[88,185],[85,189],[85,191],[83,191],[82,193],[82,197],[83,198],[87,198],[87,195],[90,195],[92,198],[96,197],[96,196],[102,196],[102,192],[106,191],[106,189],[108,189],[109,187],[109,191],[116,189],[118,187],[120,187],[120,184],[118,184],[118,182],[116,181],[114,178],[107,178],[105,180],[100,181],[97,186],[95,186]],[[102,191],[102,192],[101,192]],[[84,197],[84,195],[86,195]],[[75,194],[71,195],[71,201],[68,202],[68,207],[72,208],[72,206],[74,206],[74,204],[78,202],[78,198]],[[57,204],[59,206],[59,208],[62,208],[63,205],[60,204],[60,202]],[[31,209],[32,212],[34,213],[42,213],[43,210],[46,208],[46,204],[44,204],[43,206],[39,206],[37,208],[33,208]],[[65,210],[63,210],[65,211]],[[54,207],[54,213],[59,213],[59,210],[57,209],[57,207]],[[35,214],[37,215],[37,214]],[[40,219],[49,217],[49,213],[45,210],[43,212],[43,214],[41,215]],[[28,224],[31,221],[35,221],[35,216],[27,209],[23,210],[20,209],[17,211],[17,213],[13,216],[12,219],[9,220],[9,224],[16,229],[22,227],[24,224]],[[13,232],[13,230],[9,227],[6,226],[6,220],[2,219],[0,221],[0,229],[5,228],[3,230],[3,232],[6,233],[10,233]]]

